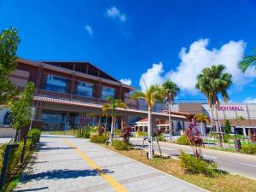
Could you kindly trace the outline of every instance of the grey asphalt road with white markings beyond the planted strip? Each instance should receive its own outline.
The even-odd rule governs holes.
[[[143,138],[131,138],[131,143],[141,146]],[[145,142],[144,149],[148,149],[148,142]],[[180,150],[192,154],[189,146],[177,145],[173,143],[160,143],[163,154],[177,157]],[[157,144],[154,143],[154,151],[159,153]],[[203,148],[203,157],[207,160],[213,160],[218,166],[230,173],[235,173],[244,177],[251,177],[256,180],[256,156],[249,154],[236,154]]]

